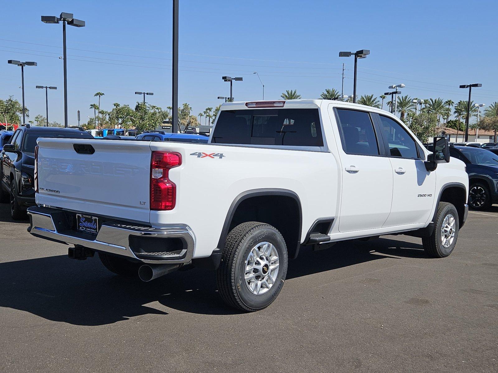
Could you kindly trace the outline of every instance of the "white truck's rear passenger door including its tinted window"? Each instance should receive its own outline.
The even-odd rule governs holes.
[[[367,111],[329,107],[340,134],[337,140],[342,173],[339,231],[380,228],[391,210],[393,177],[389,159],[380,156],[382,143],[375,135],[372,115]]]

